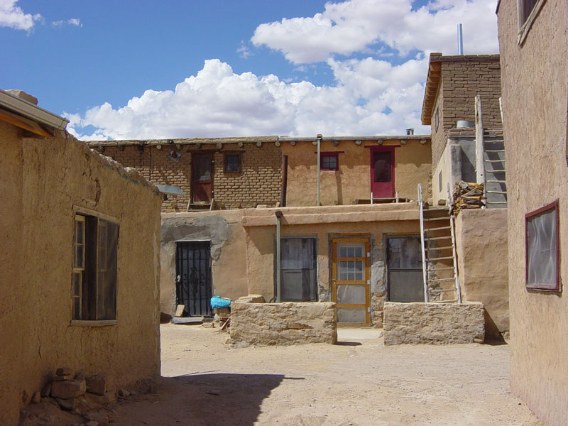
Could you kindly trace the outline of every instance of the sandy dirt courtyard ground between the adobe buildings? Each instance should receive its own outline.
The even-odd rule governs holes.
[[[157,395],[122,400],[116,425],[525,425],[508,346],[383,346],[376,330],[338,345],[230,349],[200,325],[161,327]]]

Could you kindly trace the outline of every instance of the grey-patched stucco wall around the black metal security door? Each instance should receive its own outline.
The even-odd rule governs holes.
[[[247,295],[243,210],[162,215],[160,311],[175,313],[175,242],[210,241],[213,295]]]

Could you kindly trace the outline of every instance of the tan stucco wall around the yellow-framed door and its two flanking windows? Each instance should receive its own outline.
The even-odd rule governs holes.
[[[371,243],[371,322],[381,325],[386,298],[386,236],[420,235],[416,203],[374,204],[344,207],[289,207],[283,212],[282,236],[317,238],[318,300],[332,300],[332,238],[368,237]],[[247,281],[251,294],[274,297],[275,209],[246,209]]]

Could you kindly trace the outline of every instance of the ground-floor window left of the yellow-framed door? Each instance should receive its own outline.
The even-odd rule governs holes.
[[[280,300],[317,300],[316,239],[280,239]]]

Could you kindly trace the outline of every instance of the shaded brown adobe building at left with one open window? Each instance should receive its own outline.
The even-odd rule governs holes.
[[[0,91],[2,425],[58,367],[160,373],[160,194],[36,103]]]

